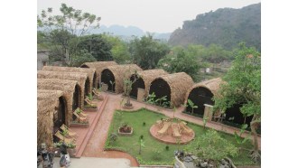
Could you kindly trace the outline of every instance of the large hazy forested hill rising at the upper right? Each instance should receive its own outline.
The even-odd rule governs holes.
[[[261,49],[261,4],[241,9],[222,8],[215,12],[198,14],[196,19],[184,21],[182,29],[176,29],[169,39],[172,45],[189,43],[208,46],[216,43],[232,49],[238,42]]]

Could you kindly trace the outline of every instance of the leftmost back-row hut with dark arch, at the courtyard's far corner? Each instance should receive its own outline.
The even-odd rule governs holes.
[[[139,70],[142,69],[135,64],[108,66],[101,72],[101,82],[108,85],[107,90],[121,93],[123,92],[123,79],[129,78],[135,71]],[[110,81],[113,82],[113,86]]]

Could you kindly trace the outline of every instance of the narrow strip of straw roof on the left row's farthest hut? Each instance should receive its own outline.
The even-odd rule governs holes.
[[[97,72],[95,69],[82,69],[82,68],[76,68],[76,67],[57,67],[57,66],[44,66],[42,70],[47,71],[68,71],[68,72],[77,72],[77,73],[87,73],[88,78],[90,80],[90,87],[89,87],[89,93],[92,93],[92,88],[97,88]]]

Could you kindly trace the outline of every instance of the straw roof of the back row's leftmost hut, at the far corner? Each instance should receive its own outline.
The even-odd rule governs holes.
[[[126,65],[112,65],[106,68],[110,70],[115,77],[115,92],[122,93],[123,92],[123,79],[129,77],[135,73],[135,71],[142,70],[136,64],[126,64]],[[105,69],[105,70],[106,70]]]

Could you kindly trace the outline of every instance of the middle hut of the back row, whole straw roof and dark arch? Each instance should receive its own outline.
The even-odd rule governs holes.
[[[173,73],[155,77],[151,82],[149,94],[155,94],[156,98],[166,96],[171,107],[180,107],[184,103],[185,94],[193,85],[191,76],[185,72]]]

